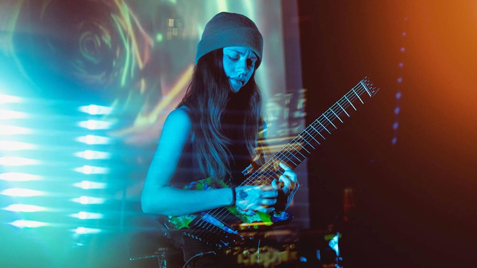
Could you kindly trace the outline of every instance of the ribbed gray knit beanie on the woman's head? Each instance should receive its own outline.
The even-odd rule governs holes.
[[[258,56],[257,69],[261,63],[263,37],[257,25],[249,18],[237,14],[220,12],[205,25],[202,38],[197,44],[195,63],[205,54],[227,46],[245,46]]]

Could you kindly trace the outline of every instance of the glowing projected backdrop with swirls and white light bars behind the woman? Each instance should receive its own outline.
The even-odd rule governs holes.
[[[67,257],[98,234],[150,228],[138,207],[146,168],[222,10],[267,37],[257,82],[278,151],[304,126],[304,91],[285,93],[281,23],[270,23],[279,2],[0,3],[0,224],[13,248],[56,262],[43,251]]]

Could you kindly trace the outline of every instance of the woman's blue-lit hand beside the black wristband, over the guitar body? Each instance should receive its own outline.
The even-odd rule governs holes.
[[[243,211],[260,211],[269,213],[275,210],[278,190],[272,186],[238,186],[236,190],[236,206]]]

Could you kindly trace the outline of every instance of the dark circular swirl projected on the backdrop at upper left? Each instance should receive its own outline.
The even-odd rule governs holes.
[[[10,52],[40,87],[53,75],[121,99],[142,79],[152,41],[123,1],[17,1],[8,10]]]

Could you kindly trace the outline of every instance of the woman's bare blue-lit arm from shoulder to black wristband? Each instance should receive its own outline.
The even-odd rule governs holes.
[[[141,194],[144,212],[184,215],[232,203],[232,191],[228,188],[198,191],[170,186],[182,149],[190,141],[191,125],[182,108],[167,117]]]

